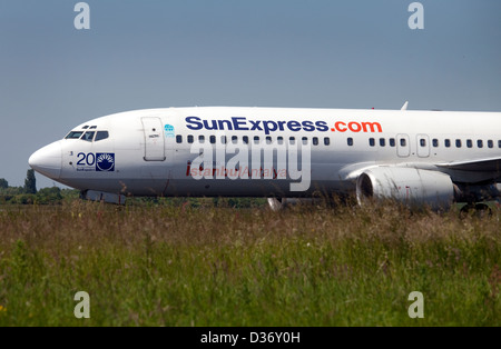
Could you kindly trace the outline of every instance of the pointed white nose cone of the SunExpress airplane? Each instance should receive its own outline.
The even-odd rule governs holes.
[[[30,167],[51,179],[59,179],[62,167],[62,150],[60,141],[46,146],[30,157]]]

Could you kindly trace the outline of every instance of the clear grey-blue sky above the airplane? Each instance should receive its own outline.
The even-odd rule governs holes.
[[[0,178],[72,127],[145,108],[501,111],[501,1],[0,0]],[[38,188],[56,183],[37,173]]]

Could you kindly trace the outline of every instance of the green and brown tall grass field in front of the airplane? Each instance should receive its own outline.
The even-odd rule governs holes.
[[[500,326],[500,216],[0,207],[0,326]]]

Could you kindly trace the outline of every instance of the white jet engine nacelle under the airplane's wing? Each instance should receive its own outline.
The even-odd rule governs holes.
[[[454,200],[454,185],[448,174],[438,171],[379,167],[358,177],[356,199],[360,205],[366,199],[393,199],[407,206],[448,209]]]

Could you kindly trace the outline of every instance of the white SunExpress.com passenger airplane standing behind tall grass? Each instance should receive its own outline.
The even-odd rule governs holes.
[[[449,208],[499,197],[501,113],[196,107],[87,121],[36,151],[82,198],[356,195]]]

